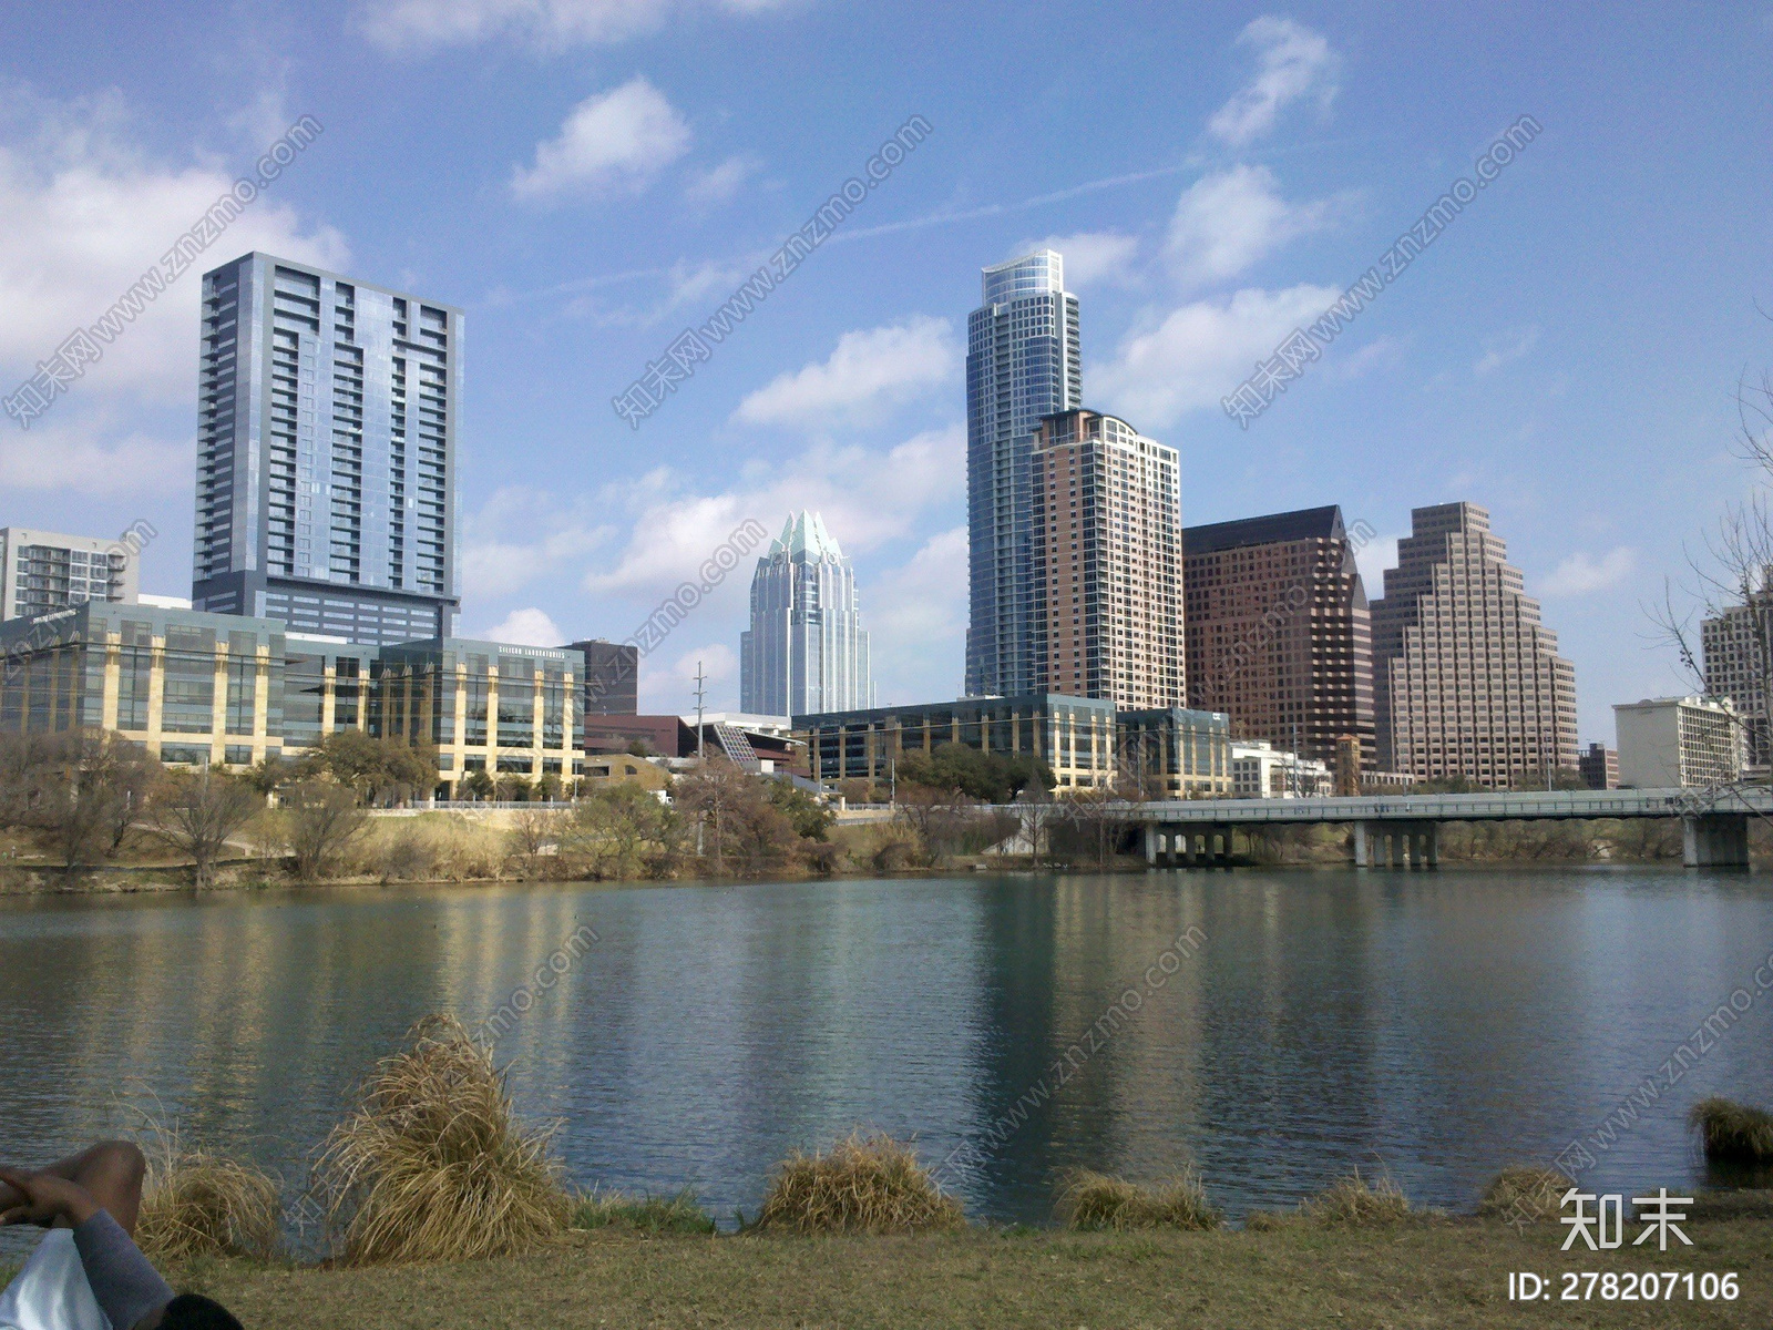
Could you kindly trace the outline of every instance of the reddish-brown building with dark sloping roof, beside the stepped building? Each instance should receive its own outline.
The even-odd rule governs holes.
[[[1340,507],[1188,527],[1183,587],[1190,706],[1319,763],[1353,736],[1372,766],[1372,624]]]

